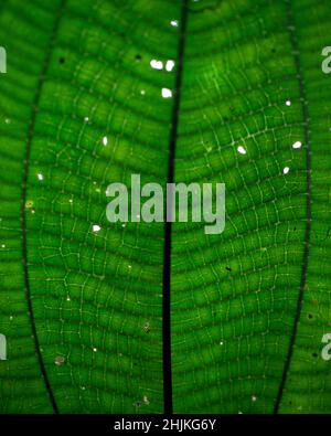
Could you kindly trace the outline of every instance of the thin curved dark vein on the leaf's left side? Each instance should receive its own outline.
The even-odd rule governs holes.
[[[29,124],[29,130],[28,130],[28,139],[26,139],[26,151],[25,151],[25,159],[24,159],[24,168],[23,168],[23,180],[22,180],[22,201],[21,201],[21,222],[22,222],[22,251],[23,251],[23,273],[24,273],[24,289],[25,289],[25,298],[28,302],[28,310],[29,310],[29,317],[31,320],[31,329],[32,329],[32,336],[34,339],[34,347],[35,347],[35,352],[38,357],[38,361],[40,364],[40,370],[46,386],[46,391],[49,393],[50,401],[52,403],[54,413],[58,413],[58,408],[54,398],[54,394],[51,389],[50,380],[45,370],[44,361],[41,354],[40,350],[40,342],[36,333],[36,327],[35,327],[35,318],[33,313],[33,306],[32,306],[32,300],[31,300],[31,289],[30,289],[30,281],[29,281],[29,268],[28,268],[28,243],[26,243],[26,215],[25,215],[25,203],[26,203],[26,194],[28,194],[28,178],[29,178],[29,164],[30,164],[30,156],[31,156],[31,145],[32,145],[32,139],[33,139],[33,134],[34,134],[34,126],[35,126],[35,120],[36,120],[36,114],[38,114],[38,108],[40,104],[40,97],[42,93],[42,87],[44,84],[45,75],[49,70],[50,61],[51,61],[51,55],[53,52],[54,43],[56,40],[57,31],[58,31],[58,25],[60,25],[60,20],[63,14],[63,10],[65,7],[66,0],[62,0],[57,14],[54,20],[54,25],[52,29],[52,33],[50,36],[49,45],[46,49],[46,54],[45,59],[42,65],[42,70],[40,72],[40,76],[38,79],[36,84],[36,89],[35,89],[35,95],[32,104],[32,113],[31,113],[31,120]]]

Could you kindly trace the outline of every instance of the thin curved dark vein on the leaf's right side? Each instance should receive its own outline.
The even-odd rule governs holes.
[[[302,272],[301,272],[301,280],[300,280],[300,289],[298,296],[298,304],[297,304],[297,311],[295,317],[295,323],[292,329],[292,334],[290,338],[289,349],[286,357],[286,362],[282,371],[282,376],[279,385],[279,391],[277,394],[276,403],[274,413],[278,413],[280,401],[282,398],[284,386],[287,380],[288,370],[290,366],[290,362],[293,354],[295,342],[298,333],[298,323],[300,320],[301,308],[303,302],[303,291],[307,281],[307,267],[308,267],[308,259],[309,259],[309,238],[310,238],[310,227],[311,227],[311,142],[310,142],[310,135],[309,135],[309,111],[308,111],[308,103],[306,97],[306,89],[305,89],[305,79],[300,63],[300,53],[299,53],[299,45],[296,34],[296,26],[295,20],[292,14],[292,8],[290,0],[287,1],[287,13],[288,13],[288,29],[290,33],[290,42],[292,47],[292,53],[295,57],[295,64],[297,70],[297,75],[299,79],[299,87],[300,87],[300,99],[302,102],[302,117],[303,117],[303,131],[305,131],[305,143],[306,143],[306,169],[307,169],[307,204],[306,204],[306,232],[305,232],[305,247],[303,247],[303,258],[302,258]]]

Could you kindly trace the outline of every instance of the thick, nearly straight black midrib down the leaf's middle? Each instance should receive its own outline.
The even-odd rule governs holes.
[[[171,131],[170,131],[170,141],[169,141],[168,183],[173,183],[173,177],[174,177],[174,156],[175,156],[178,121],[179,121],[179,108],[180,108],[180,99],[181,99],[186,19],[188,19],[188,0],[183,0],[182,13],[180,20],[180,39],[179,39],[178,61],[177,61],[174,102],[172,109],[172,121],[171,121]],[[172,414],[170,283],[171,283],[171,222],[166,221],[164,265],[163,265],[163,397],[164,397],[166,414]]]

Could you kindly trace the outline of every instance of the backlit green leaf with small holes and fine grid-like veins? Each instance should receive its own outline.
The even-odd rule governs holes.
[[[1,413],[330,413],[330,13],[1,2]],[[110,224],[132,173],[225,183],[225,231]]]

